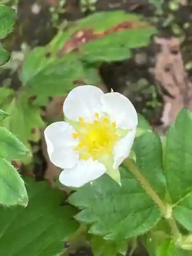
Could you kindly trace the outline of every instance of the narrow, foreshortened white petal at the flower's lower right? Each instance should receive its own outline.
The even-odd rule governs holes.
[[[114,146],[114,168],[122,163],[122,161],[127,158],[130,154],[134,138],[136,134],[136,129],[130,131],[124,138],[117,141]]]

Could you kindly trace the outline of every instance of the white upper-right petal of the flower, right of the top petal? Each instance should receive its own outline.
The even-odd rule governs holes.
[[[133,129],[137,126],[137,112],[129,99],[120,93],[106,93],[102,95],[103,112],[107,113],[117,127]]]

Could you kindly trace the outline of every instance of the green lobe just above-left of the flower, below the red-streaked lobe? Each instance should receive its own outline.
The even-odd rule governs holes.
[[[58,58],[51,52],[47,59],[47,49],[35,48],[23,63],[20,79],[30,102],[46,105],[49,96],[63,96],[80,84],[101,83],[96,68],[85,68],[86,65],[75,54],[70,53]],[[34,95],[35,98],[32,97]]]

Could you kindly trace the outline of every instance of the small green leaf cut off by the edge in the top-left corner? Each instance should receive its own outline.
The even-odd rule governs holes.
[[[0,39],[4,39],[13,30],[15,11],[8,6],[0,5]]]

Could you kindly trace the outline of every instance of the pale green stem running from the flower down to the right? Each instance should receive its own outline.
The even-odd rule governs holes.
[[[167,207],[164,204],[164,202],[159,198],[159,196],[156,194],[154,189],[151,187],[150,183],[141,175],[139,172],[139,169],[136,167],[134,162],[127,158],[124,160],[124,165],[127,166],[130,170],[130,172],[137,178],[137,180],[141,183],[143,189],[146,191],[146,193],[153,199],[153,201],[158,205],[160,211],[162,212],[164,218],[167,220],[170,228],[172,229],[172,234],[175,240],[178,240],[181,238],[181,234],[179,232],[179,229],[177,227],[177,224],[174,220],[174,218],[171,216],[170,218],[167,217]]]

